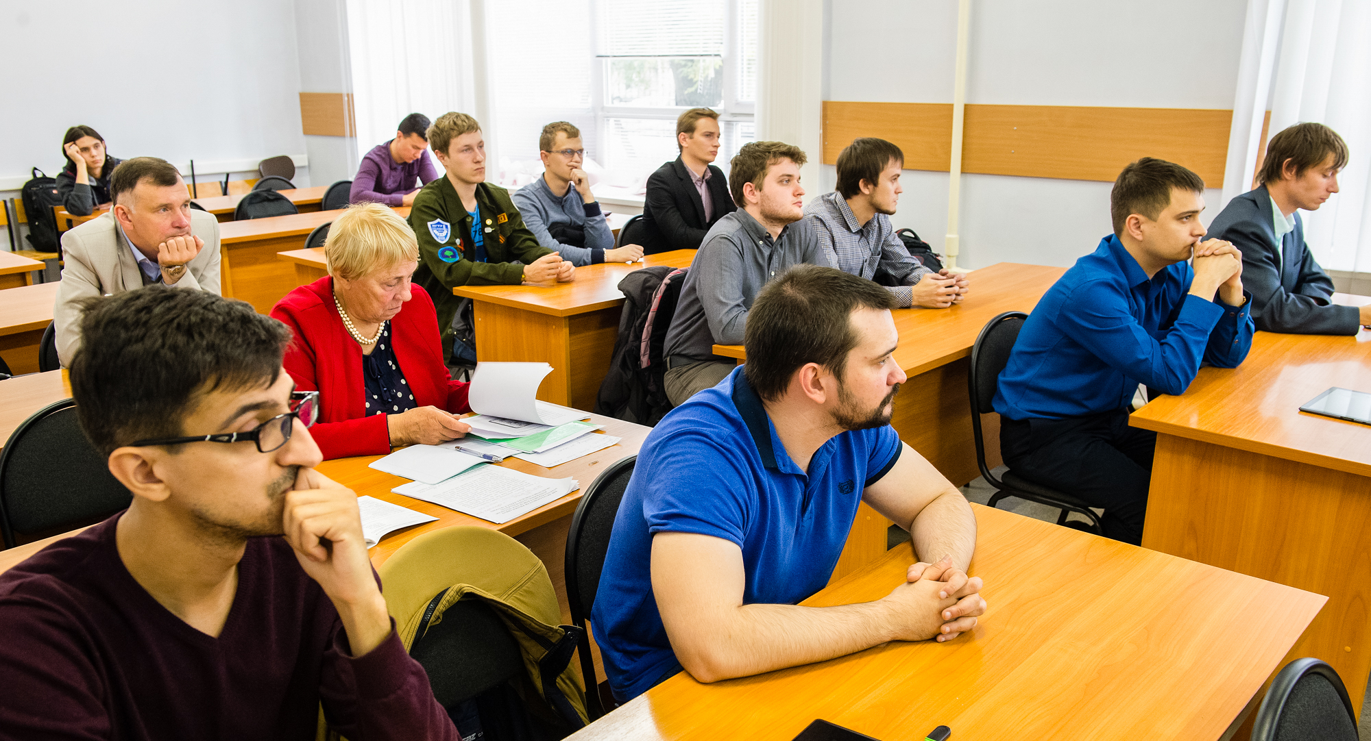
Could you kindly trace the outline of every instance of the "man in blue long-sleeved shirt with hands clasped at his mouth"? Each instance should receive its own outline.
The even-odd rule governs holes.
[[[1242,255],[1200,241],[1198,175],[1139,159],[1119,174],[1109,207],[1115,233],[1038,301],[994,407],[1015,474],[1102,507],[1105,536],[1137,545],[1157,441],[1128,426],[1138,385],[1180,394],[1201,362],[1237,367],[1253,325]]]

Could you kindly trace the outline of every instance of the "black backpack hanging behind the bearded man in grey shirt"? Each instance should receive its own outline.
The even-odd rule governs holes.
[[[618,338],[595,399],[595,414],[653,426],[672,411],[662,352],[686,273],[684,267],[654,266],[635,270],[618,282],[624,311],[618,315]]]

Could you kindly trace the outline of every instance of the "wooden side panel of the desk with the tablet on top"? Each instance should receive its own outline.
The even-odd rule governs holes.
[[[1361,712],[1371,674],[1371,478],[1158,434],[1142,545],[1327,594],[1282,666],[1323,659]]]

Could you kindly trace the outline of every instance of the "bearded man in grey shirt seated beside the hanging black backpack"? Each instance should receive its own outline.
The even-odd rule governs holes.
[[[754,141],[733,158],[729,190],[738,211],[718,219],[691,263],[666,330],[666,397],[681,404],[717,385],[736,363],[714,345],[743,342],[747,311],[768,281],[799,263],[828,266],[803,221],[799,168],[805,152],[780,141]]]

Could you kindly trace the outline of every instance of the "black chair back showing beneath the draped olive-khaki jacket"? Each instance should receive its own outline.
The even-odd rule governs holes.
[[[443,612],[441,622],[420,633],[410,656],[428,673],[433,697],[444,708],[524,671],[524,656],[514,636],[480,600],[458,600]]]

